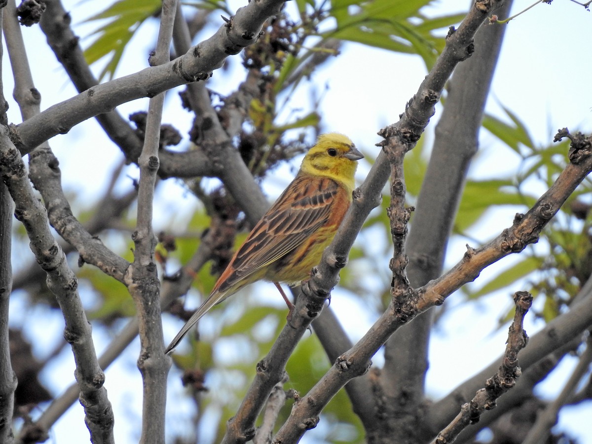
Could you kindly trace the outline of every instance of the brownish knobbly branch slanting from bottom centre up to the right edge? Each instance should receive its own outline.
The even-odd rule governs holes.
[[[556,136],[556,140],[560,140],[561,137],[568,137],[567,134],[567,130],[560,131]],[[584,137],[581,134],[570,135],[569,137],[572,139],[570,149],[572,163],[565,168],[555,184],[536,202],[534,207],[526,215],[516,215],[513,227],[504,230],[490,243],[478,250],[469,247],[464,258],[451,271],[417,289],[419,294],[417,303],[401,307],[397,301],[392,300],[387,311],[382,314],[368,333],[352,349],[343,353],[337,359],[335,365],[329,369],[310,392],[301,398],[299,403],[295,404],[288,421],[276,435],[276,442],[286,439],[298,439],[304,433],[304,428],[298,424],[307,424],[305,428],[316,426],[318,414],[323,407],[346,382],[362,374],[368,368],[370,358],[401,325],[433,305],[442,304],[453,291],[456,291],[466,282],[473,281],[491,263],[510,253],[520,252],[525,249],[528,243],[538,240],[540,230],[545,227],[563,202],[571,195],[575,187],[592,170],[592,137]],[[335,242],[336,240],[332,245]],[[325,253],[327,253],[327,250]],[[316,276],[313,275],[309,285],[315,279]],[[306,287],[306,282],[303,287]],[[300,298],[298,302],[300,302]],[[298,308],[298,305],[296,308]],[[294,313],[300,313],[300,310],[295,310],[292,313],[292,320],[296,322]],[[300,316],[302,315],[300,314]],[[555,344],[555,348],[557,346]],[[550,351],[547,350],[543,355],[539,356],[539,359]]]

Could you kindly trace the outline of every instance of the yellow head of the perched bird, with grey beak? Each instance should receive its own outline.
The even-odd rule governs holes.
[[[339,133],[322,134],[318,136],[317,144],[304,156],[300,172],[332,178],[351,193],[355,186],[356,161],[362,157],[349,137]]]

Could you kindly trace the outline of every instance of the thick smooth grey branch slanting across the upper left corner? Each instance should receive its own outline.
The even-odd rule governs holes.
[[[124,102],[152,97],[175,86],[210,78],[229,54],[237,54],[243,47],[255,43],[263,22],[278,14],[282,5],[283,0],[250,2],[239,8],[232,20],[222,25],[214,36],[175,60],[89,88],[12,127],[15,144],[22,154],[28,153],[42,141],[67,133],[76,124],[109,112]]]

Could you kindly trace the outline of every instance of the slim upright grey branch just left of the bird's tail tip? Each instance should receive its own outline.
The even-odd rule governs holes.
[[[162,65],[169,59],[170,40],[177,8],[176,0],[165,0],[160,14],[160,28],[155,53],[150,63]],[[142,432],[140,442],[165,442],[166,376],[170,358],[164,354],[160,282],[155,263],[156,236],[152,229],[154,189],[159,167],[160,121],[165,93],[150,99],[144,146],[138,160],[140,182],[136,230],[131,235],[136,249],[134,262],[125,281],[137,307],[140,328],[138,368],[144,382]]]

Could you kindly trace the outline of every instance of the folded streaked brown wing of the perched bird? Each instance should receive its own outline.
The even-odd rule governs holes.
[[[231,287],[308,239],[329,220],[337,192],[332,179],[297,176],[237,250],[229,265],[234,271],[221,287]]]

